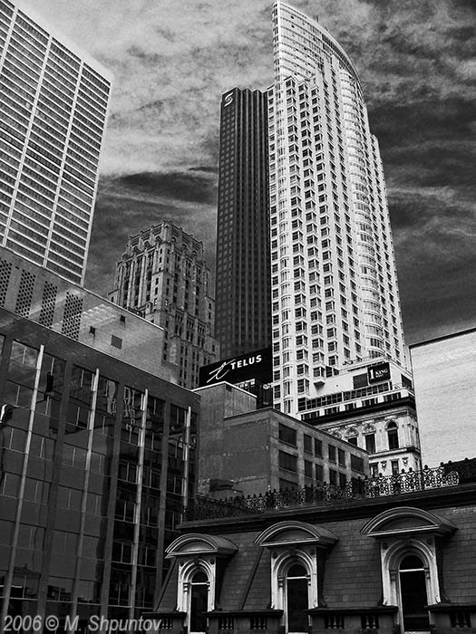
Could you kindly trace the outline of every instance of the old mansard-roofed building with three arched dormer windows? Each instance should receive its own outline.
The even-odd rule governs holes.
[[[203,504],[167,549],[151,623],[171,634],[472,632],[472,463],[467,483],[439,468],[340,499]]]

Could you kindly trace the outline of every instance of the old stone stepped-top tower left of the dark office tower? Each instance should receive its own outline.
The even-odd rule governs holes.
[[[109,298],[163,329],[161,359],[178,367],[180,385],[196,388],[199,367],[219,352],[203,244],[169,221],[132,235]]]

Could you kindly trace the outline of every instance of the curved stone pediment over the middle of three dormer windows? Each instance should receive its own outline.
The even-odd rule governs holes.
[[[255,540],[259,546],[297,546],[315,544],[329,547],[338,541],[332,531],[305,522],[279,522],[269,526]]]

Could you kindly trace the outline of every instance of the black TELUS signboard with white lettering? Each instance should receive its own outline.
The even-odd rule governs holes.
[[[270,383],[273,380],[271,348],[217,361],[199,369],[199,388],[224,380],[236,385],[250,379],[262,383]]]

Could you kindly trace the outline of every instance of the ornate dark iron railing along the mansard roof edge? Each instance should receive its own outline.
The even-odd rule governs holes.
[[[355,478],[342,487],[324,483],[278,491],[275,489],[259,495],[237,495],[223,500],[198,496],[196,502],[187,508],[184,519],[204,520],[266,513],[298,506],[324,506],[341,500],[371,499],[458,485],[458,471],[448,467],[442,465],[430,469],[426,466],[422,471],[410,469],[394,476]]]

